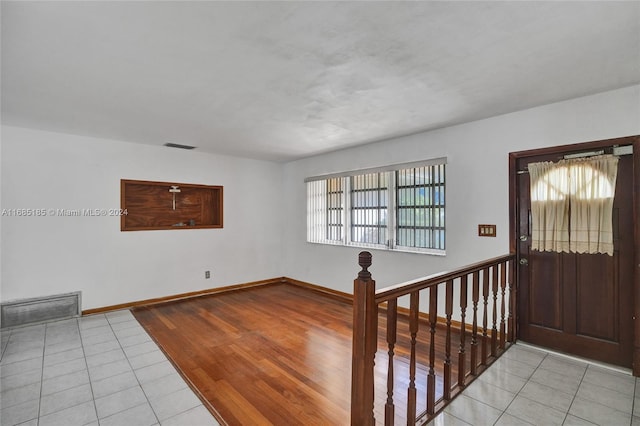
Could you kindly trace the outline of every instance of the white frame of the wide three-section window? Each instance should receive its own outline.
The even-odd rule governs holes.
[[[443,248],[424,248],[413,246],[400,246],[397,244],[398,214],[397,209],[397,182],[396,171],[412,168],[429,167],[437,165],[446,165],[446,158],[436,158],[432,160],[395,164],[384,167],[376,167],[371,169],[361,169],[351,172],[336,173],[331,175],[316,176],[305,179],[307,184],[307,242],[316,244],[343,245],[349,247],[362,247],[378,250],[392,250],[411,253],[425,253],[431,255],[443,256],[446,254],[446,245]],[[351,178],[354,176],[372,174],[372,173],[388,173],[387,182],[387,216],[386,216],[386,233],[387,238],[384,244],[366,243],[352,241],[352,191]],[[327,180],[341,178],[343,180],[342,193],[342,238],[339,240],[329,239],[328,232],[328,202],[327,202]],[[324,184],[324,189],[323,189]],[[446,216],[446,176],[444,176],[445,202],[442,209]],[[446,244],[446,219],[443,231]]]

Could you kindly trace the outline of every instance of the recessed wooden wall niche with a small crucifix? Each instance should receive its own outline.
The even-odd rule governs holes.
[[[120,188],[121,231],[222,228],[222,186],[122,179]]]

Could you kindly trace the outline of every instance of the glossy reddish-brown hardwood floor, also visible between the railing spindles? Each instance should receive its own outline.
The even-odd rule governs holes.
[[[132,312],[222,424],[349,424],[350,304],[277,284],[138,307]],[[383,315],[380,322],[384,324]],[[378,422],[384,421],[387,392],[388,348],[383,333],[376,355]],[[419,333],[418,412],[425,409],[428,334],[426,329]],[[443,333],[437,337],[439,398]],[[408,342],[408,325],[401,319],[394,358],[396,424],[406,424]],[[452,353],[457,354],[458,342],[454,336]],[[455,369],[453,377],[457,377]]]

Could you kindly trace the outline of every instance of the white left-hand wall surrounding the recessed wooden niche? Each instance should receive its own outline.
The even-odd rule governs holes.
[[[281,164],[6,126],[1,157],[4,209],[119,208],[120,179],[224,185],[223,229],[2,217],[2,301],[82,290],[91,309],[283,275]]]

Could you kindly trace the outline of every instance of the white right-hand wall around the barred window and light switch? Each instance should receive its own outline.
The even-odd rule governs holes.
[[[640,86],[291,162],[284,171],[286,274],[351,292],[359,269],[362,249],[305,242],[305,177],[448,158],[447,255],[373,250],[370,270],[382,288],[509,252],[509,152],[636,134]],[[481,223],[496,224],[497,238],[478,237]]]

